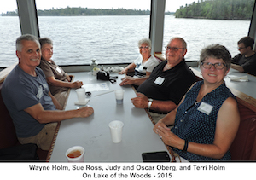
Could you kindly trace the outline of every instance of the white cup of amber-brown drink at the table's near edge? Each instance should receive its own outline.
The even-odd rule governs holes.
[[[73,154],[77,154],[79,152],[78,157],[72,157]],[[73,146],[68,148],[66,151],[66,158],[68,162],[84,162],[84,148],[81,146]]]

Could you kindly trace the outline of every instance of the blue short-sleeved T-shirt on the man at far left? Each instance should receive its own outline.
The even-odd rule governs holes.
[[[14,121],[18,137],[35,136],[45,125],[24,109],[41,103],[44,110],[55,110],[43,71],[36,67],[36,73],[37,77],[32,77],[17,65],[3,82],[3,102]]]

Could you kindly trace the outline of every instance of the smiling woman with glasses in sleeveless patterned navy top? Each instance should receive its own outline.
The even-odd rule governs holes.
[[[236,97],[224,84],[230,58],[228,49],[219,44],[202,49],[204,80],[193,84],[177,108],[154,125],[163,142],[186,160],[231,160],[229,148],[240,116]]]

